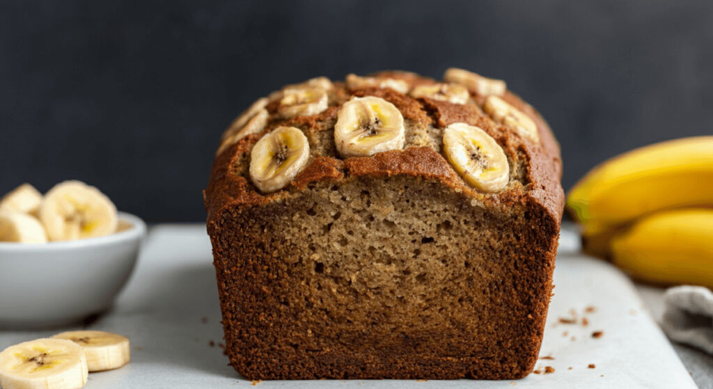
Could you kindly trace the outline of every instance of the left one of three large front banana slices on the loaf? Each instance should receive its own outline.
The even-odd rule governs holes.
[[[250,152],[250,178],[263,193],[287,186],[309,159],[309,142],[299,128],[279,127],[255,143]]]

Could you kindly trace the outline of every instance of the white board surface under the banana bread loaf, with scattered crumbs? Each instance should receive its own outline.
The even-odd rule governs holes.
[[[563,232],[555,296],[536,368],[517,381],[318,380],[265,381],[262,388],[696,388],[640,299],[635,286],[609,264],[578,254],[577,237]],[[649,296],[651,297],[651,296]],[[594,306],[593,313],[585,308]],[[572,311],[573,310],[573,311]],[[575,313],[578,324],[559,318]],[[581,324],[581,318],[588,325]],[[0,348],[77,328],[128,336],[132,361],[92,373],[86,388],[235,388],[252,383],[223,355],[220,306],[205,226],[150,229],[138,265],[112,311],[85,326],[53,331],[3,331]],[[564,336],[564,333],[567,333]],[[593,338],[593,331],[603,331]],[[215,346],[211,346],[215,343]],[[588,368],[590,363],[595,368]],[[570,369],[571,367],[571,369]],[[700,370],[706,374],[706,370]],[[699,372],[700,373],[700,372]],[[705,378],[705,377],[704,377]]]

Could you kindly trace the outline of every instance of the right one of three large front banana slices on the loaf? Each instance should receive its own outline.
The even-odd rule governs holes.
[[[443,130],[443,150],[468,184],[486,192],[497,192],[508,185],[508,158],[481,128],[466,123],[448,125]]]

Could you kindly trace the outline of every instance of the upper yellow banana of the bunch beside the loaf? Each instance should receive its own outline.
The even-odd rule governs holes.
[[[580,222],[608,225],[697,206],[713,206],[713,136],[670,140],[608,160],[567,199]]]

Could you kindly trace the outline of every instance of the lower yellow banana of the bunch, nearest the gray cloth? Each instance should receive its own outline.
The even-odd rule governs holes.
[[[713,208],[675,209],[613,237],[612,260],[636,279],[713,286]]]

